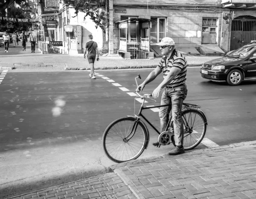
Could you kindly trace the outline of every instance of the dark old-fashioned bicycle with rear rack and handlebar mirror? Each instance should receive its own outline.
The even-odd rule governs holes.
[[[140,74],[138,75],[138,77],[135,77],[136,84],[137,78],[141,79]],[[144,107],[145,99],[151,99],[150,97],[152,95],[144,94],[142,96],[138,92],[136,93],[137,96],[134,98],[134,116],[121,117],[114,120],[105,129],[102,136],[102,145],[105,154],[113,162],[120,163],[137,159],[143,153],[143,151],[147,149],[150,135],[145,122],[141,118],[143,118],[157,132],[157,134],[159,134],[158,142],[160,145],[169,145],[170,142],[175,145],[172,115],[170,115],[166,130],[160,133],[154,127],[154,125],[152,125],[151,122],[149,122],[148,119],[146,119],[146,117],[142,114],[142,111],[144,109],[159,108],[169,105]],[[137,97],[140,97],[140,99],[142,99],[143,101],[140,106],[140,110],[136,115],[135,99]],[[201,111],[199,108],[201,108],[199,105],[183,103],[183,147],[185,151],[191,150],[198,146],[200,142],[204,139],[204,135],[206,133],[206,128],[208,125],[207,119],[204,112]],[[120,145],[117,146],[117,142],[120,142]],[[158,147],[160,147],[160,145]]]

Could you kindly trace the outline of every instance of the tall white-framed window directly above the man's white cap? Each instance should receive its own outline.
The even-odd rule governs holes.
[[[151,17],[152,27],[150,29],[150,43],[159,43],[163,37],[166,37],[166,18]]]

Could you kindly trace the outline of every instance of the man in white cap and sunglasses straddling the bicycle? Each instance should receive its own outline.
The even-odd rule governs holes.
[[[163,90],[161,105],[169,104],[169,106],[160,107],[159,117],[161,125],[161,133],[166,131],[169,121],[169,113],[172,109],[173,128],[175,134],[176,147],[169,151],[169,155],[178,155],[185,153],[183,148],[183,120],[181,117],[181,108],[187,95],[186,88],[186,68],[188,66],[183,54],[175,49],[175,42],[170,37],[164,37],[160,43],[162,59],[159,65],[152,71],[145,81],[137,88],[137,92],[142,91],[145,85],[153,81],[161,72],[163,72],[163,81],[154,89],[152,96],[157,98],[160,91]],[[154,146],[158,147],[159,142],[154,142]]]

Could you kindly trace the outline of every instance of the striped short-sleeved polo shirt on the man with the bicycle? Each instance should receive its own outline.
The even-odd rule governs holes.
[[[163,56],[157,67],[160,67],[163,71],[163,79],[169,74],[172,67],[176,67],[180,70],[180,73],[167,85],[177,87],[186,82],[186,68],[188,66],[187,61],[183,54],[174,50],[169,60],[166,60],[166,56]],[[166,66],[166,62],[167,66]]]

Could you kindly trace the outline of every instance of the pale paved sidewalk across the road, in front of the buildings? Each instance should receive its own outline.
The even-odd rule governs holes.
[[[10,47],[8,53],[4,48],[0,48],[0,68],[9,67],[16,70],[89,70],[90,65],[83,56],[71,56],[68,54],[41,54],[31,53],[30,44],[27,43],[27,51],[22,51],[18,45],[16,48]],[[217,56],[186,56],[189,66],[200,66],[203,63],[219,58]],[[99,62],[96,61],[95,70],[100,69],[123,69],[123,68],[155,68],[160,62],[160,58],[125,60],[118,55],[100,56]],[[55,65],[55,67],[42,67],[42,65]],[[63,67],[63,65],[65,67]],[[4,68],[6,69],[6,68]]]

